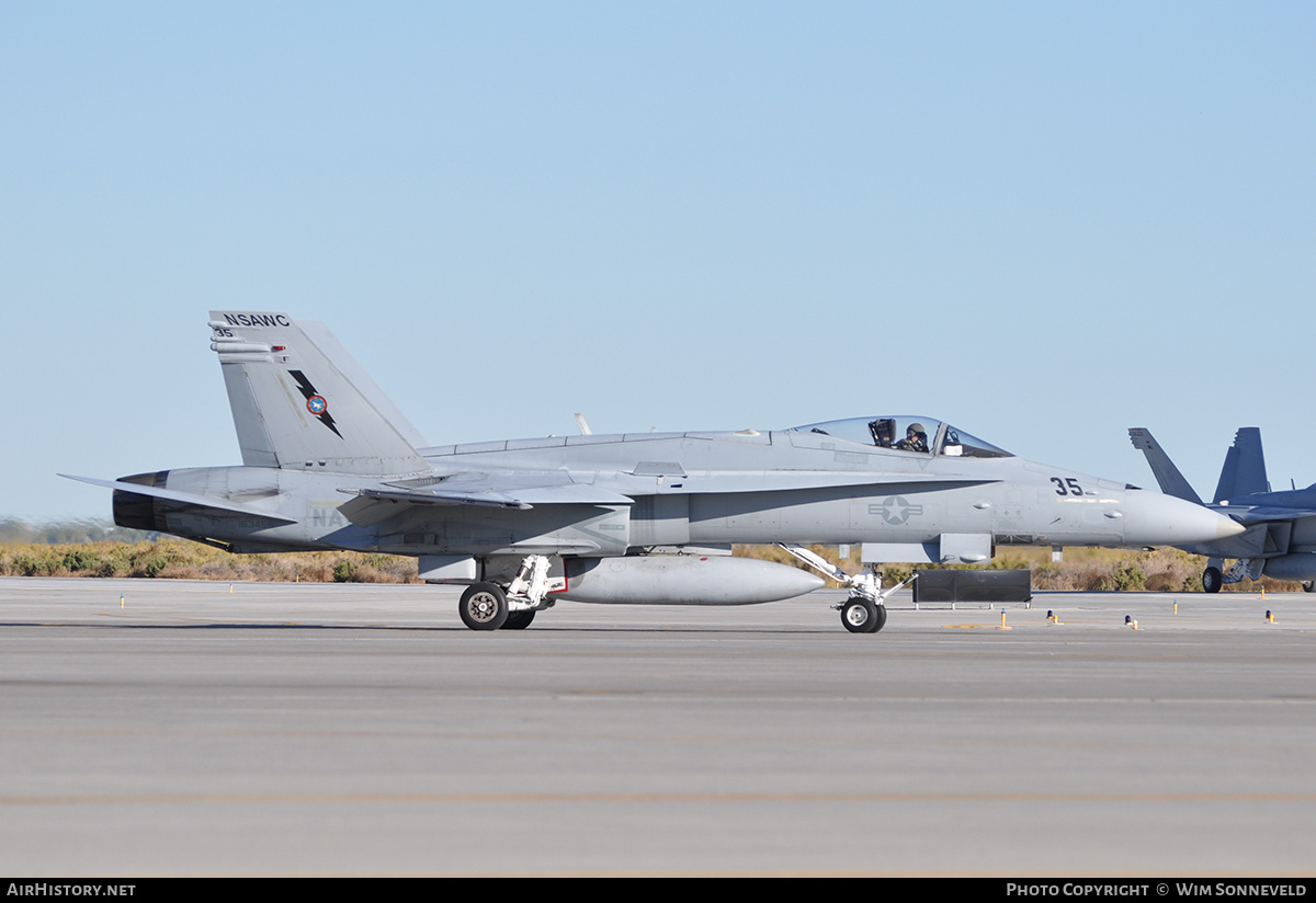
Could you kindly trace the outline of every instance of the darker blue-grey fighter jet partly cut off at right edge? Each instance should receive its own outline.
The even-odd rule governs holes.
[[[1129,439],[1146,455],[1161,492],[1194,505],[1204,503],[1148,430],[1130,427]],[[1316,484],[1271,492],[1257,427],[1245,426],[1234,434],[1215,498],[1207,507],[1229,515],[1245,531],[1209,543],[1177,543],[1186,552],[1207,556],[1203,590],[1219,593],[1224,584],[1266,574],[1275,580],[1299,580],[1304,590],[1312,591],[1316,586]],[[1224,573],[1225,559],[1234,559],[1228,573]]]

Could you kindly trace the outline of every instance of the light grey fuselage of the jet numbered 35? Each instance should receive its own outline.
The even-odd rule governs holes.
[[[155,475],[163,481],[157,485],[171,490],[241,501],[293,523],[143,502],[129,493],[116,493],[116,519],[136,498],[136,517],[126,517],[134,522],[125,526],[147,526],[149,507],[149,528],[238,552],[347,548],[417,556],[613,556],[772,542],[932,549],[946,535],[988,538],[988,548],[1141,547],[1228,535],[1221,532],[1228,521],[1180,499],[1007,453],[961,456],[942,448],[919,453],[803,428],[513,439],[421,455],[436,477],[588,486],[633,503],[550,502],[529,510],[374,503],[354,513],[353,493],[379,478],[333,473],[326,460]]]

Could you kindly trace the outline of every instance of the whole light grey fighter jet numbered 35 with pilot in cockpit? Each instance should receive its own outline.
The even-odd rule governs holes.
[[[242,467],[75,478],[114,490],[121,526],[233,552],[416,556],[422,580],[467,585],[459,611],[472,630],[525,627],[558,598],[746,605],[822,585],[730,557],[732,543],[863,543],[874,564],[978,564],[998,544],[1241,532],[1200,506],[1025,461],[924,417],[425,447],[322,325],[215,312],[211,330]],[[875,574],[829,576],[850,586],[846,628],[879,630]]]

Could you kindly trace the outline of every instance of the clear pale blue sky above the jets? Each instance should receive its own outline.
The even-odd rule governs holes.
[[[7,4],[0,515],[240,463],[211,309],[432,443],[916,413],[1316,481],[1316,7]]]

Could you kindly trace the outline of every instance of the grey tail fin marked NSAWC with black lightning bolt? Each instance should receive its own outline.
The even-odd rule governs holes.
[[[220,355],[242,463],[371,476],[429,471],[404,436],[418,436],[415,428],[374,381],[365,377],[363,392],[336,365],[330,355],[362,373],[328,330],[308,326],[330,347],[321,348],[287,314],[211,312],[211,350]]]

